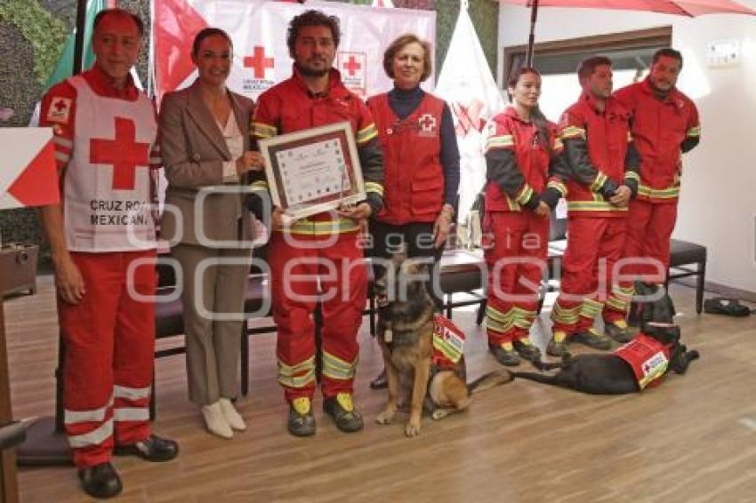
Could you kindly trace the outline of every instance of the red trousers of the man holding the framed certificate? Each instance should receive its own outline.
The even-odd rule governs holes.
[[[269,257],[273,320],[278,328],[278,382],[286,400],[312,398],[315,393],[312,314],[318,299],[323,315],[323,395],[351,393],[359,355],[357,335],[367,299],[367,266],[358,233],[287,236],[274,232]]]

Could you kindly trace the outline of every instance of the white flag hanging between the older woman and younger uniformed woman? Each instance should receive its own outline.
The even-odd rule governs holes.
[[[463,222],[475,195],[486,181],[481,134],[487,120],[504,108],[502,93],[488,68],[467,12],[466,0],[461,2],[459,18],[434,94],[446,100],[454,116],[460,149],[458,220]]]

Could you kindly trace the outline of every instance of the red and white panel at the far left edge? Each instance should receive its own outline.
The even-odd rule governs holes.
[[[0,210],[60,202],[52,129],[0,129]]]

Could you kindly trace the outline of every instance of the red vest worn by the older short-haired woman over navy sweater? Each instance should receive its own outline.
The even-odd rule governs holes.
[[[425,94],[420,105],[399,120],[388,94],[367,100],[383,147],[383,201],[377,219],[393,225],[432,222],[444,204],[441,115],[444,100]]]

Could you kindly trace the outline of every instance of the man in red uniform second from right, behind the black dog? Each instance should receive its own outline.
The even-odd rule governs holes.
[[[611,346],[593,322],[615,283],[613,268],[623,251],[639,164],[630,114],[611,95],[611,65],[603,56],[580,64],[583,93],[559,121],[570,180],[553,186],[567,197],[569,220],[561,292],[551,311],[553,338],[546,349],[552,356],[564,353],[568,338],[598,349]]]

